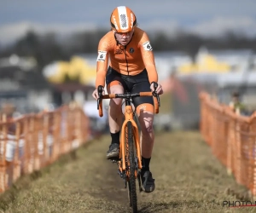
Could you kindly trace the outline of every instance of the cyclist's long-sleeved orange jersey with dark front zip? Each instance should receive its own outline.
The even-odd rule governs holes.
[[[105,86],[105,77],[109,66],[123,75],[135,76],[146,68],[149,83],[158,82],[158,74],[154,63],[154,54],[148,35],[135,27],[130,43],[122,46],[108,32],[99,42],[96,64],[96,88]]]

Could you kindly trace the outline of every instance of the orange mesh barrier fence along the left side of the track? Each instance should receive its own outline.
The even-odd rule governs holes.
[[[52,164],[90,137],[89,118],[78,106],[0,122],[0,193],[23,174]]]

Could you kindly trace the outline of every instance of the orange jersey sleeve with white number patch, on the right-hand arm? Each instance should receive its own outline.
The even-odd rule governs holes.
[[[146,32],[143,32],[143,37],[139,43],[141,53],[143,55],[143,63],[148,72],[148,80],[149,83],[158,82],[158,73],[156,71],[155,63],[154,63],[154,53],[153,48],[150,44],[148,35]]]

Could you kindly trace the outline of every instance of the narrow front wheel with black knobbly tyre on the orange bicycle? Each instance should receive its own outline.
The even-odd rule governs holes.
[[[131,121],[127,122],[126,126],[126,143],[128,144],[128,155],[127,155],[127,163],[130,164],[129,167],[129,181],[128,181],[128,197],[130,206],[132,208],[132,212],[137,212],[137,193],[136,193],[136,178],[135,178],[135,172],[137,170],[136,168],[136,162],[135,162],[135,156],[134,156],[134,141],[133,141],[133,131],[132,131],[132,124]]]

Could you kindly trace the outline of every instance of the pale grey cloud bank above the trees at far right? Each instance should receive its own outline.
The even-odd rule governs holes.
[[[247,37],[256,36],[256,20],[249,17],[224,18],[215,17],[197,25],[189,26],[187,30],[203,37],[219,37],[227,31],[243,33]]]

